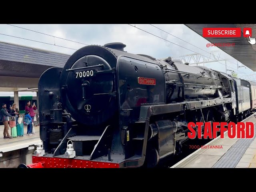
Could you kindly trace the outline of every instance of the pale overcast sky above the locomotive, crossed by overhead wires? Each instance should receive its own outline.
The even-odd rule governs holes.
[[[165,58],[171,56],[172,58],[181,59],[180,56],[186,54],[200,53],[204,56],[209,57],[210,52],[214,50],[219,50],[221,52],[220,57],[230,62],[227,62],[227,68],[229,70],[234,70],[238,77],[248,74],[253,74],[254,72],[249,68],[239,68],[237,71],[236,63],[237,61],[221,51],[217,47],[206,47],[209,43],[206,39],[196,34],[196,32],[190,30],[184,24],[153,24],[158,28],[165,30],[166,32],[172,34],[167,34],[157,28],[154,28],[150,24],[132,24],[133,26],[141,28],[146,32],[134,28],[128,24],[13,24],[15,26],[20,26],[22,28],[35,30],[52,36],[65,38],[68,40],[73,40],[76,42],[84,44],[98,44],[104,45],[110,42],[122,42],[126,44],[125,51],[134,54],[147,54],[155,58]],[[72,54],[77,49],[85,46],[84,44],[79,44],[75,42],[70,42],[67,40],[62,40],[59,38],[53,38],[44,34],[39,34],[29,30],[24,30],[22,28],[17,28],[7,24],[0,24],[0,41],[11,42],[15,44],[21,44],[25,46],[41,48],[46,50],[51,50],[55,52],[61,52],[66,54]],[[148,34],[150,32],[156,36],[164,38],[165,40]],[[20,38],[26,38],[30,40],[45,42],[48,44],[34,42],[30,40],[24,40],[20,38],[14,38],[10,36],[5,36],[2,34],[16,36]],[[176,36],[176,37],[174,37]],[[194,45],[190,45],[178,38]],[[168,41],[170,42],[168,42]],[[172,43],[171,43],[172,42]],[[59,46],[64,46],[68,48],[62,48],[54,46],[54,43]],[[53,45],[49,45],[53,44]],[[176,45],[178,44],[178,45]],[[181,47],[182,46],[182,47]],[[202,50],[200,50],[199,48]],[[189,49],[189,50],[188,50]],[[204,50],[204,51],[203,51]],[[217,54],[217,53],[214,53]],[[225,62],[220,61],[205,64],[206,67],[212,68],[214,70],[219,70],[225,72]],[[233,63],[231,63],[233,62]],[[235,63],[235,64],[234,64]],[[240,66],[242,64],[238,62]],[[202,65],[202,64],[201,64]],[[243,72],[243,73],[241,73]],[[228,71],[231,74],[230,71]],[[247,78],[248,79],[248,78]]]

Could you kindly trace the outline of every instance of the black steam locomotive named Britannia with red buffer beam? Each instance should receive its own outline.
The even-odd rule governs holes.
[[[85,46],[42,74],[42,143],[28,167],[154,167],[182,152],[188,122],[238,122],[256,108],[254,82],[125,47]]]

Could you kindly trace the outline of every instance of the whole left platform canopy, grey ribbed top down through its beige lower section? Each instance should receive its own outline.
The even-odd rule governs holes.
[[[64,67],[68,58],[68,54],[0,41],[0,92],[37,91],[42,73]]]

